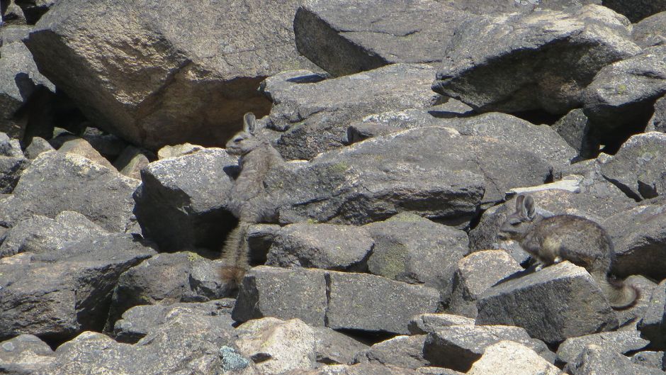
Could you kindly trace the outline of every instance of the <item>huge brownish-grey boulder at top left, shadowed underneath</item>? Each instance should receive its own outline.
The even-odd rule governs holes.
[[[26,45],[101,128],[150,149],[223,145],[243,113],[269,111],[261,80],[312,67],[295,49],[297,4],[59,1]]]

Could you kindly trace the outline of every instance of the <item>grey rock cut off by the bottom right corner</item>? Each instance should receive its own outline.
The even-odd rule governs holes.
[[[589,345],[580,356],[565,366],[571,375],[664,375],[665,372],[649,366],[633,364],[622,354],[606,350],[598,345]]]

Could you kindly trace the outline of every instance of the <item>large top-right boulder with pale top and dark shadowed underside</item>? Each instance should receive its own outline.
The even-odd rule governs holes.
[[[564,114],[580,106],[599,69],[640,52],[630,34],[626,18],[597,5],[470,18],[433,89],[477,111]]]

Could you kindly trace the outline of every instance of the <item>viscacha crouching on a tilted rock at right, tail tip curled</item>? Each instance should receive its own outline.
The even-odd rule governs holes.
[[[534,198],[521,195],[516,199],[516,212],[499,230],[500,237],[516,240],[540,267],[568,260],[587,269],[611,307],[628,308],[636,303],[636,287],[609,277],[615,255],[613,242],[594,221],[573,215],[544,218],[536,213]]]

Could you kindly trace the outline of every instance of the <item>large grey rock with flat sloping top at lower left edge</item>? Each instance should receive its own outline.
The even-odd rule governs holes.
[[[60,341],[101,330],[120,274],[154,253],[132,236],[111,234],[60,253],[0,258],[0,340],[30,333]]]

